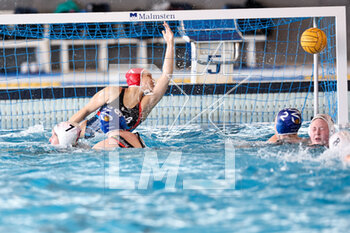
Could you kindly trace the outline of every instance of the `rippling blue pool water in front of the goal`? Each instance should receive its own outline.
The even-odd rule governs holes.
[[[149,148],[57,149],[50,130],[0,132],[0,232],[347,232],[350,168],[322,147],[265,145],[271,124],[225,128],[235,153],[235,189],[184,189],[186,179],[225,178],[225,137],[210,127],[141,128]],[[301,130],[307,135],[306,128]],[[93,145],[101,139],[83,141]],[[119,154],[116,154],[119,153]],[[181,156],[174,189],[112,189],[119,175],[139,182],[146,155],[160,166]],[[115,158],[115,157],[114,157]],[[138,186],[137,186],[138,187]]]

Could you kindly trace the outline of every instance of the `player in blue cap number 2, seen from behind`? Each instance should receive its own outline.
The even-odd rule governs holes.
[[[307,139],[300,138],[298,131],[302,123],[301,113],[296,108],[281,110],[275,120],[276,134],[268,142],[270,143],[299,143]]]

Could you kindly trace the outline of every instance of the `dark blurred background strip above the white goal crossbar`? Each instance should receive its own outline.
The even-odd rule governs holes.
[[[53,13],[53,12],[110,12],[134,10],[190,10],[260,7],[312,7],[346,6],[347,19],[350,20],[349,0],[1,0],[0,13]],[[350,36],[350,23],[347,25]],[[348,57],[350,42],[347,44]]]

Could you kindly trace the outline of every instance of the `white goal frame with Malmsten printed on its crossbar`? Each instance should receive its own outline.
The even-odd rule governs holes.
[[[140,17],[138,18],[137,16]],[[345,6],[190,11],[128,11],[108,13],[7,14],[0,15],[0,25],[210,20],[218,19],[218,16],[220,16],[220,19],[335,17],[338,103],[337,123],[340,127],[349,125]]]

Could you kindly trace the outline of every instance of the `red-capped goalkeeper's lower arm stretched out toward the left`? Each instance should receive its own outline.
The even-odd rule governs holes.
[[[106,87],[97,92],[82,109],[75,113],[70,119],[70,122],[80,123],[92,112],[108,103],[110,99],[119,96],[120,87]]]

